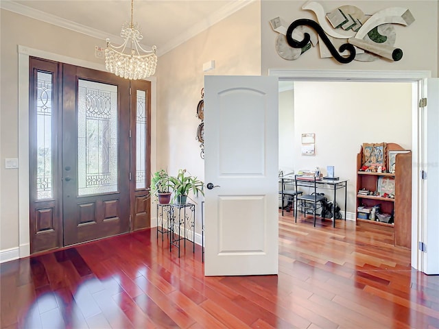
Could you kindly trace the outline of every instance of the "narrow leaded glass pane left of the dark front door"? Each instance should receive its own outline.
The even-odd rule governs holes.
[[[37,73],[36,199],[54,197],[52,182],[52,73]]]

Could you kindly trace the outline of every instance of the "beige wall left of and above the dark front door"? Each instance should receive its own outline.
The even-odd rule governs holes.
[[[5,169],[5,158],[19,158],[19,56],[18,45],[40,49],[87,62],[104,69],[94,57],[97,40],[68,29],[0,10],[1,15],[1,121],[0,121],[0,250],[19,245],[19,170]],[[84,65],[85,66],[85,65]],[[91,67],[91,66],[89,66]]]

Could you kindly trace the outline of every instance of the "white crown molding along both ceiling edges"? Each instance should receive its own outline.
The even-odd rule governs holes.
[[[220,10],[217,10],[209,16],[206,16],[206,18],[204,18],[199,23],[193,25],[193,27],[191,27],[190,29],[187,29],[187,31],[179,34],[176,38],[169,40],[169,42],[166,42],[165,45],[162,45],[160,49],[157,49],[157,56],[161,56],[164,53],[171,51],[175,47],[181,45],[183,42],[186,42],[190,38],[193,38],[193,36],[199,34],[200,32],[203,32],[212,25],[218,23],[219,21],[222,21],[222,19],[225,19],[227,16],[230,16],[238,10],[241,10],[242,8],[246,7],[246,5],[249,5],[254,1],[256,0],[233,1],[230,4],[225,5]],[[107,32],[103,32],[99,29],[93,29],[91,27],[78,24],[67,19],[62,19],[58,16],[47,14],[47,12],[42,12],[40,10],[29,8],[25,5],[21,5],[20,3],[2,0],[0,1],[0,8],[4,10],[9,10],[10,12],[15,12],[16,14],[30,17],[31,19],[37,19],[38,21],[43,21],[45,23],[64,27],[65,29],[70,29],[71,31],[82,33],[93,38],[101,40],[106,40],[106,38],[110,38],[112,42],[123,42],[123,39],[120,36],[109,35]],[[147,45],[141,46],[145,49],[148,48]]]

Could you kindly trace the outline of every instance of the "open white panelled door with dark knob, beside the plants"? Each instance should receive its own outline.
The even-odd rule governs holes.
[[[206,76],[204,90],[204,275],[277,274],[278,79]]]

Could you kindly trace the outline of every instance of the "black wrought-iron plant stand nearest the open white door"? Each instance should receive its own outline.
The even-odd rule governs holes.
[[[178,258],[180,258],[180,242],[184,241],[186,249],[187,236],[191,234],[193,253],[195,254],[195,204],[171,204],[170,207],[171,239],[169,251],[172,251],[174,245],[178,248]],[[181,226],[183,226],[183,232],[181,232]]]

